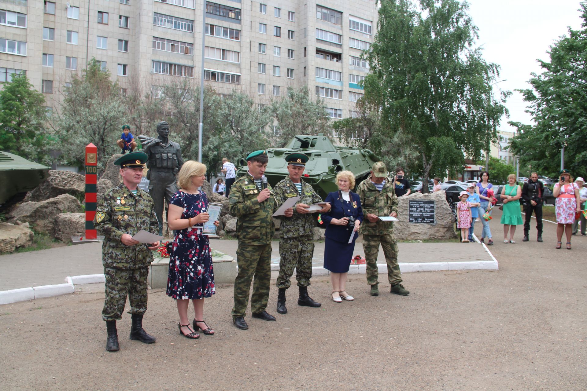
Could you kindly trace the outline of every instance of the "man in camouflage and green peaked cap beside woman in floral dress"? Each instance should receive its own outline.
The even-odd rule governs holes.
[[[102,264],[106,299],[102,319],[106,321],[108,332],[107,351],[119,350],[116,321],[122,319],[127,295],[132,318],[130,339],[146,344],[155,342],[155,338],[143,330],[143,315],[147,311],[151,250],[156,250],[159,242],[149,245],[132,239],[141,229],[156,232],[158,227],[153,199],[137,188],[146,161],[147,155],[143,152],[132,152],[114,162],[120,166],[122,183],[104,193],[96,207],[94,226],[104,235]]]

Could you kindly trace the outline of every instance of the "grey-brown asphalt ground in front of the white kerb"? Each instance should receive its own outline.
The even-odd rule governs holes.
[[[298,307],[292,287],[288,314],[276,314],[272,288],[277,321],[247,316],[247,331],[231,324],[232,285],[222,285],[205,305],[217,335],[197,341],[178,334],[163,290],[150,291],[144,319],[156,344],[130,341],[125,314],[115,353],[104,351],[100,284],[0,305],[0,390],[584,391],[587,237],[556,250],[556,226],[545,223],[544,243],[535,230],[522,243],[519,227],[518,243],[504,244],[499,213],[490,247],[498,271],[406,273],[407,297],[387,293],[385,276],[371,297],[365,275],[353,275],[355,301],[341,304],[329,300],[328,278],[315,277],[309,292],[321,308]]]

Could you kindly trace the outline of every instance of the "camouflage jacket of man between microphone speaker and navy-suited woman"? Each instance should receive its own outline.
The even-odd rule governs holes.
[[[275,202],[278,206],[281,206],[286,199],[290,197],[296,197],[301,195],[302,198],[295,203],[305,203],[311,205],[312,203],[322,202],[322,198],[312,188],[311,185],[302,181],[302,194],[298,193],[298,188],[294,185],[289,176],[282,179],[275,185]],[[281,219],[281,226],[279,231],[281,237],[299,237],[299,236],[312,236],[313,228],[316,226],[312,213],[298,213],[294,206],[294,216],[285,217],[279,216]]]

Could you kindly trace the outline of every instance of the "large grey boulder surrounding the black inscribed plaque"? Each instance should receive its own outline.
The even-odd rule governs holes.
[[[393,232],[397,240],[453,239],[454,216],[446,200],[446,193],[439,191],[431,194],[412,193],[398,199],[398,218],[393,223]],[[410,200],[433,200],[435,223],[410,223]]]

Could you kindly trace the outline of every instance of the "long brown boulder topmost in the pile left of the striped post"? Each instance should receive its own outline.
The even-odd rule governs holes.
[[[25,202],[44,201],[62,194],[70,194],[83,199],[86,189],[86,178],[73,171],[49,171],[45,181],[36,186],[26,195]]]

